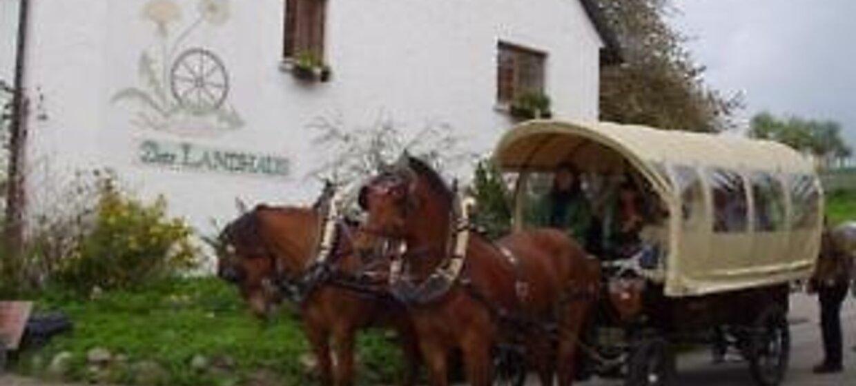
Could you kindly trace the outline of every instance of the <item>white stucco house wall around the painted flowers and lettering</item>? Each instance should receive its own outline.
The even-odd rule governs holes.
[[[50,198],[39,193],[46,179],[92,167],[115,169],[145,196],[165,194],[201,231],[212,231],[209,219],[234,217],[235,197],[308,202],[318,184],[305,174],[321,152],[306,124],[318,116],[339,115],[347,126],[370,125],[382,114],[414,129],[449,124],[469,149],[488,151],[513,124],[494,108],[500,40],[548,53],[547,91],[557,117],[597,119],[601,41],[577,0],[329,0],[326,56],[334,76],[312,85],[279,67],[282,0],[231,0],[222,25],[202,22],[175,54],[203,47],[222,59],[229,73],[224,106],[245,124],[193,133],[172,130],[187,122],[166,131],[135,126],[143,103],[111,100],[128,87],[151,90],[140,56],[148,51],[159,66],[162,40],[143,17],[149,0],[33,3],[27,86],[44,95],[44,116],[31,120],[29,183],[37,206]],[[169,44],[198,15],[199,0],[175,3],[181,20],[169,24]],[[219,125],[211,122],[189,126]],[[139,155],[146,140],[280,155],[291,170],[272,178],[146,166]]]

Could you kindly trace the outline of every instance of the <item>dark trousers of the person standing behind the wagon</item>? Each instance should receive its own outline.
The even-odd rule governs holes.
[[[824,362],[841,366],[841,302],[847,296],[847,283],[821,285],[817,290],[820,301],[820,327],[823,332]]]

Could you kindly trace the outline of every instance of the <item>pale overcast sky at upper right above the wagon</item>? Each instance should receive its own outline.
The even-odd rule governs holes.
[[[856,0],[674,0],[675,23],[722,91],[761,110],[837,120],[856,147]]]

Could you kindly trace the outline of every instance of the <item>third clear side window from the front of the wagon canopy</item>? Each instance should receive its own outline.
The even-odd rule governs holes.
[[[769,173],[752,174],[751,183],[755,230],[782,230],[785,225],[785,191],[782,183]]]

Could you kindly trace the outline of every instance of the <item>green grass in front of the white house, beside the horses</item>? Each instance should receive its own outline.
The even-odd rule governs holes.
[[[39,376],[56,354],[73,354],[68,380],[92,381],[86,353],[106,348],[127,356],[127,363],[153,360],[167,385],[259,384],[259,371],[274,382],[312,384],[300,356],[308,351],[300,323],[282,315],[267,323],[254,319],[237,290],[217,278],[192,278],[151,284],[135,291],[104,293],[81,300],[61,291],[36,299],[40,309],[59,309],[74,320],[74,332],[56,336],[38,351],[21,354],[17,371]],[[359,383],[391,383],[400,368],[399,350],[378,332],[360,336]],[[219,371],[193,370],[203,355],[211,363],[233,363]],[[111,365],[112,366],[112,365]],[[133,366],[116,366],[107,380],[134,383]]]

